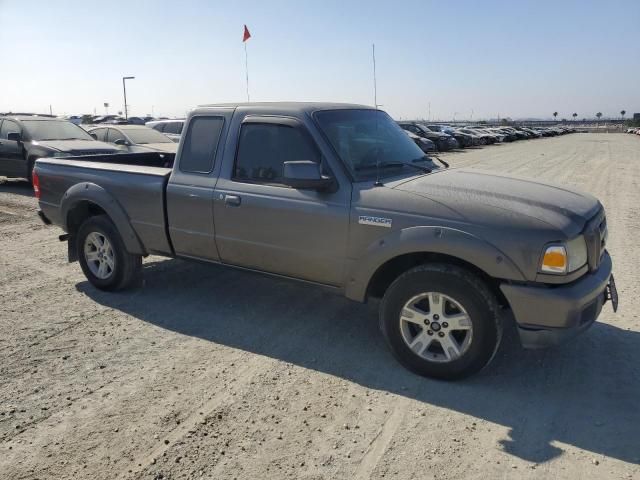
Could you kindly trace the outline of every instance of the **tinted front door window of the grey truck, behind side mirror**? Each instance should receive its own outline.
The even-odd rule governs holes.
[[[311,160],[321,155],[299,128],[267,123],[248,123],[240,130],[234,180],[282,184],[284,162]]]

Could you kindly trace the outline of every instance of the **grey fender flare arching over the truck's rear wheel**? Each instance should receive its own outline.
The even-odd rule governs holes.
[[[142,242],[131,226],[131,221],[118,201],[100,185],[91,182],[76,183],[62,197],[60,213],[62,226],[69,231],[69,212],[80,202],[90,202],[102,208],[115,224],[127,251],[134,255],[147,255]]]

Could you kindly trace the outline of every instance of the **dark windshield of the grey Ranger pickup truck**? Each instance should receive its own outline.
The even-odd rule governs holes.
[[[380,110],[327,110],[317,112],[315,118],[357,181],[375,178],[376,165],[383,178],[398,175],[403,169],[418,172],[411,164],[430,162],[402,128]]]

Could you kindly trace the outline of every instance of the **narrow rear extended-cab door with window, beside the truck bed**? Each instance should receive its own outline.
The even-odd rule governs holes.
[[[213,223],[216,157],[232,110],[191,117],[167,185],[169,237],[177,255],[219,260]]]

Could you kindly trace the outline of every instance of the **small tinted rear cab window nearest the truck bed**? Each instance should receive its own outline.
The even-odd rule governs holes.
[[[223,125],[223,117],[194,117],[191,120],[180,154],[181,171],[209,173],[213,170]]]

